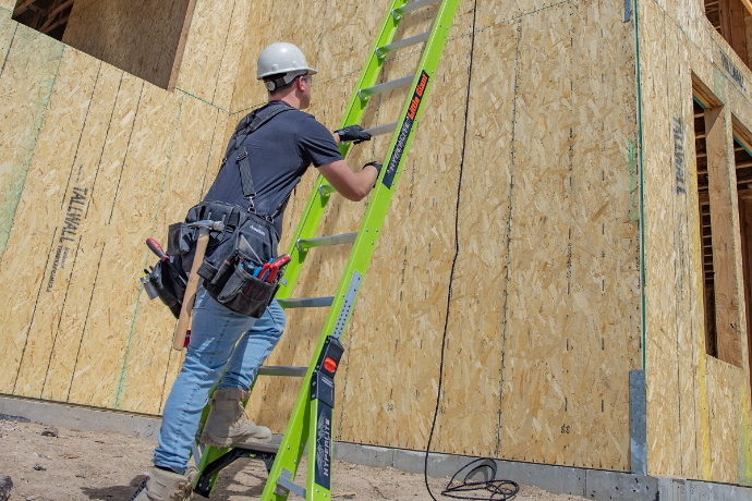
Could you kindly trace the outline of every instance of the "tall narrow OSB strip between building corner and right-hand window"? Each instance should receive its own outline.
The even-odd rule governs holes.
[[[665,20],[658,5],[645,2],[640,11],[641,30],[662,36],[641,39],[641,72],[651,75],[642,81],[644,117],[643,187],[645,218],[645,354],[647,376],[647,420],[662,421],[662,432],[655,435],[648,426],[648,468],[650,473],[665,472],[666,475],[680,475],[679,438],[679,388],[676,375],[676,273],[674,242],[663,237],[667,229],[675,228],[672,205],[666,200],[675,198],[676,188],[669,182],[674,178],[674,148],[668,106],[667,85],[667,42]],[[651,40],[650,42],[647,40]],[[654,285],[651,285],[654,284]],[[666,365],[666,369],[662,367]],[[663,423],[662,417],[672,415]]]

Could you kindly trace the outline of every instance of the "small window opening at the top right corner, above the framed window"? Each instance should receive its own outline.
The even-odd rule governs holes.
[[[705,15],[747,66],[752,47],[752,0],[705,0]]]

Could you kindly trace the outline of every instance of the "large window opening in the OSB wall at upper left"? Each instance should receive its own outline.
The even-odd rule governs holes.
[[[19,0],[13,20],[172,90],[195,0]]]

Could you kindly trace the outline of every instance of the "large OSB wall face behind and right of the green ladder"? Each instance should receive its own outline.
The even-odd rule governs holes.
[[[472,9],[472,3],[468,4]],[[468,4],[463,19],[472,21],[472,16],[466,15]],[[500,23],[494,27],[476,26],[478,33],[471,100],[466,110],[468,146],[464,159],[458,143],[465,127],[464,105],[468,95],[464,75],[469,70],[468,53],[472,37],[466,34],[450,39],[435,86],[426,100],[422,124],[417,127],[403,179],[383,229],[384,234],[362,285],[363,293],[353,313],[352,325],[344,337],[348,356],[344,378],[338,386],[341,418],[337,416],[340,420],[335,423],[339,439],[414,449],[425,447],[438,387],[436,361],[440,357],[447,286],[452,267],[458,169],[463,164],[465,174],[459,209],[460,247],[449,309],[439,429],[433,449],[498,454],[501,457],[526,456],[529,461],[569,464],[578,463],[578,457],[583,456],[580,464],[586,462],[603,467],[628,467],[624,460],[628,448],[626,381],[629,368],[636,363],[634,358],[640,347],[636,315],[639,273],[634,268],[638,257],[636,225],[634,222],[624,222],[630,211],[627,144],[634,136],[634,129],[630,129],[634,126],[633,119],[630,119],[629,112],[631,109],[631,117],[634,115],[633,81],[629,80],[630,68],[616,56],[618,50],[610,49],[614,56],[590,75],[592,82],[586,85],[572,82],[574,64],[579,71],[592,66],[594,54],[608,51],[612,45],[614,40],[608,37],[623,41],[623,32],[619,33],[618,29],[628,29],[622,26],[619,19],[621,13],[616,7],[612,11],[594,9],[587,13],[584,9],[578,12],[569,5],[557,7],[524,16],[520,26],[517,22]],[[578,28],[570,28],[570,15],[573,13],[581,16],[581,33]],[[607,30],[606,37],[599,27],[584,29],[587,23],[598,16],[611,20],[612,26],[609,24],[609,27],[614,32]],[[520,34],[522,38],[518,40]],[[577,49],[572,48],[573,37],[578,39]],[[553,56],[547,56],[549,52]],[[518,58],[520,66],[524,68],[519,75],[519,85],[524,91],[516,98]],[[414,56],[410,54],[396,58],[387,63],[384,80],[402,76],[411,71],[411,64],[414,68]],[[499,72],[499,68],[505,71]],[[549,80],[549,74],[557,76]],[[604,80],[618,90],[608,93],[601,89],[598,94],[597,84]],[[336,85],[342,86],[341,83]],[[579,107],[587,111],[574,111],[572,85],[577,85],[575,89],[579,90],[575,91],[581,93]],[[317,85],[314,89],[323,91],[328,86],[329,83]],[[516,103],[521,108],[517,119]],[[393,120],[390,117],[393,117],[397,108],[399,102],[391,102],[385,96],[377,112],[366,117],[362,123],[368,126],[388,123]],[[619,111],[612,112],[611,108]],[[319,117],[319,112],[315,111]],[[595,117],[604,117],[605,120],[594,120]],[[577,129],[575,125],[580,127],[577,133],[570,131],[570,127]],[[522,132],[512,142],[514,127]],[[583,140],[583,136],[587,139]],[[442,137],[453,139],[444,140]],[[550,146],[548,142],[556,146]],[[584,146],[571,152],[570,157],[570,149],[580,142]],[[368,159],[367,151],[373,151],[376,158],[379,151],[383,155],[381,148],[386,145],[381,138],[372,145],[366,145],[365,151],[362,147],[353,148],[349,159],[351,163],[357,166]],[[519,211],[521,216],[519,219],[516,219],[517,216],[512,218],[513,231],[519,232],[514,233],[517,239],[513,237],[510,244],[513,252],[509,253],[512,265],[510,265],[510,271],[516,271],[507,279],[505,260],[512,146],[520,149],[514,172],[521,180],[517,180],[513,186],[521,192],[513,211]],[[603,157],[608,159],[608,167],[590,172]],[[569,178],[575,164],[583,167],[578,171],[579,178],[574,178],[578,187],[570,188]],[[621,166],[621,170],[612,166]],[[518,182],[522,187],[518,187]],[[598,190],[591,188],[591,184]],[[543,186],[547,186],[547,192],[539,196]],[[307,191],[299,191],[291,204],[306,196]],[[560,203],[565,198],[570,209],[561,213]],[[359,212],[351,203],[332,199],[322,233],[352,231]],[[295,219],[293,213],[294,210],[288,215],[291,220]],[[553,222],[548,223],[548,219]],[[573,223],[578,220],[579,227]],[[416,230],[422,228],[430,230]],[[572,236],[569,228],[573,230]],[[532,236],[542,229],[546,234],[550,233],[554,241],[543,248]],[[543,304],[551,296],[566,295],[568,282],[577,286],[575,279],[567,278],[570,272],[567,266],[570,261],[569,239],[577,242],[577,237],[584,243],[573,250],[574,259],[583,268],[595,269],[574,276],[577,279],[583,277],[590,284],[571,292],[569,307],[581,305],[583,310],[597,307],[603,320],[584,314],[580,319],[571,320],[567,318],[570,311],[560,304]],[[517,243],[518,240],[522,243]],[[586,250],[593,244],[599,252]],[[627,249],[629,257],[624,257],[621,249]],[[605,258],[603,253],[606,254]],[[555,254],[556,257],[550,257]],[[303,272],[294,295],[331,293],[333,282],[339,278],[338,269],[341,269],[343,255],[341,250],[312,252],[314,266]],[[337,261],[337,266],[332,266],[330,260]],[[546,270],[544,277],[536,274],[538,265]],[[614,273],[618,278],[606,284],[606,278]],[[524,339],[532,335],[533,327],[525,327],[531,323],[526,317],[536,316],[536,342],[551,337],[554,341],[546,343],[550,347],[542,353],[529,353],[527,350],[534,351],[539,346],[524,349],[522,341],[517,341],[517,352],[506,352],[507,356],[513,358],[507,364],[512,367],[509,370],[514,370],[509,378],[516,386],[530,387],[530,381],[520,382],[521,378],[533,378],[541,382],[535,382],[534,391],[522,392],[504,387],[511,396],[502,407],[505,427],[499,449],[507,280],[516,295],[514,306],[509,309],[514,311],[509,315],[509,321],[514,322],[513,328],[508,328],[510,332]],[[521,284],[523,281],[524,285]],[[543,290],[532,300],[533,303],[526,298],[525,291],[530,288]],[[622,307],[614,308],[610,303],[615,294],[624,301],[624,308],[629,309],[623,317],[619,316]],[[608,309],[616,310],[610,314]],[[522,310],[524,313],[519,313]],[[269,364],[305,361],[304,354],[313,345],[323,315],[291,311],[286,337]],[[587,332],[593,333],[590,335],[592,339]],[[572,357],[558,362],[557,357],[560,359],[568,346],[573,353]],[[574,354],[575,350],[580,353]],[[590,369],[585,369],[577,377],[568,376],[568,371],[586,365],[585,359],[596,356],[608,357],[609,361],[618,358],[617,363],[609,362],[607,368],[596,366],[590,372]],[[550,364],[555,367],[542,369],[541,363],[548,364],[547,361],[553,361]],[[517,371],[523,364],[526,364],[525,369]],[[536,371],[541,375],[532,374]],[[376,380],[378,384],[374,384]],[[590,389],[596,380],[602,383],[578,400],[579,387]],[[258,410],[251,410],[251,415],[263,417],[265,423],[271,423],[272,428],[281,430],[292,396],[286,398],[286,412],[280,413],[277,408],[280,392],[284,390],[284,394],[289,394],[298,387],[294,382],[259,380],[256,388],[263,390],[252,399],[250,406],[255,404]],[[541,401],[545,402],[544,412],[537,411]],[[468,405],[468,402],[473,404]],[[523,416],[522,419],[516,419],[518,414],[525,414],[530,408],[536,410],[535,418]],[[553,414],[549,408],[560,410],[561,415]],[[573,415],[570,423],[566,421],[567,412]],[[504,413],[510,413],[511,417]],[[468,424],[462,429],[472,431],[458,430],[453,426],[458,420]],[[372,427],[367,426],[374,421],[384,424],[378,435],[372,433]],[[543,426],[545,430],[542,430]],[[591,438],[587,438],[589,435]],[[574,438],[578,436],[581,437],[579,440]],[[541,447],[531,447],[532,441],[537,441]],[[514,449],[512,444],[516,444]],[[606,453],[598,454],[599,449],[605,449]]]

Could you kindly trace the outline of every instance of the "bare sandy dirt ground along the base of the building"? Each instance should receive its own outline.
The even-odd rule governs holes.
[[[129,501],[150,466],[155,443],[120,435],[49,427],[0,416],[0,474],[13,480],[12,501]],[[220,474],[211,494],[216,501],[258,499],[266,481],[262,462],[239,460]],[[447,479],[429,479],[434,497],[442,497]],[[482,496],[477,493],[474,496]],[[486,499],[488,493],[485,494]],[[194,500],[204,499],[198,494]],[[300,499],[290,494],[290,500]],[[422,475],[392,468],[373,468],[336,461],[332,501],[430,500]],[[494,498],[498,499],[498,498]],[[578,501],[577,496],[550,494],[521,486],[516,501]]]

